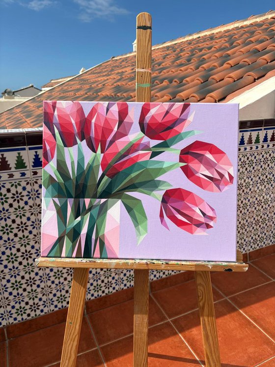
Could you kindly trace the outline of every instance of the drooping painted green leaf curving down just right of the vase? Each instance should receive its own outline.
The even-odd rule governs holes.
[[[147,234],[147,216],[142,202],[128,194],[123,194],[121,201],[133,222],[139,244]]]

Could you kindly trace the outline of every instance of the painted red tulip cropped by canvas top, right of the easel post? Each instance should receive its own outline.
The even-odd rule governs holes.
[[[153,140],[167,140],[183,132],[191,124],[190,103],[144,103],[139,126]]]

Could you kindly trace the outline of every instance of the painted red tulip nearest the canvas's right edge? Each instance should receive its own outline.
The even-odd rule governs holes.
[[[232,185],[233,166],[220,148],[204,141],[194,141],[180,152],[179,161],[186,177],[204,190],[222,192]]]

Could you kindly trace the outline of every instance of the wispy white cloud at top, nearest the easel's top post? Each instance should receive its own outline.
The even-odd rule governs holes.
[[[93,18],[112,20],[115,15],[127,15],[129,11],[119,7],[113,0],[74,0],[80,6],[79,19],[90,22]]]

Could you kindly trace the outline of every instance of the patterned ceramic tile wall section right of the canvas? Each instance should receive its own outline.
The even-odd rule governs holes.
[[[275,243],[275,119],[242,121],[239,132],[238,247]]]

